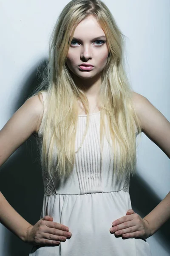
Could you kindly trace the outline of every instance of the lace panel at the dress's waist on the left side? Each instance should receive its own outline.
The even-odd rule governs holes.
[[[44,194],[45,195],[57,195],[53,180],[51,179],[47,170],[42,172],[42,179],[44,183]]]

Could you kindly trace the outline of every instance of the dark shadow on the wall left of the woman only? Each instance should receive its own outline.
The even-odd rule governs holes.
[[[23,105],[40,84],[42,79],[37,75],[37,69],[39,68],[42,73],[42,68],[47,63],[48,60],[43,59],[29,74],[23,90],[20,90],[14,112]],[[36,138],[31,135],[0,169],[0,191],[9,204],[30,224],[35,224],[40,219],[42,209],[44,190],[39,158]],[[8,256],[28,255],[31,249],[31,245],[21,241],[13,233],[10,233],[10,237],[6,237],[6,243],[8,252],[4,252],[4,255]]]

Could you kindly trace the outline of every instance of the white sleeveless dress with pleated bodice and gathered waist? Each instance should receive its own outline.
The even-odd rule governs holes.
[[[42,134],[44,113],[39,129]],[[82,142],[86,115],[79,115],[75,150]],[[29,256],[151,256],[141,238],[122,238],[110,233],[112,222],[131,209],[129,178],[113,174],[108,141],[104,140],[102,163],[99,148],[100,111],[90,114],[88,133],[76,153],[73,173],[67,180],[55,180],[43,172],[44,198],[40,218],[45,215],[69,227],[70,239],[57,246],[35,245]],[[137,128],[136,128],[137,136]]]

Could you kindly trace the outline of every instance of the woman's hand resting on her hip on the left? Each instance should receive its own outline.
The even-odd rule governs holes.
[[[71,237],[68,232],[69,228],[57,222],[53,222],[53,218],[46,215],[37,221],[34,226],[27,229],[26,242],[31,244],[60,244]]]

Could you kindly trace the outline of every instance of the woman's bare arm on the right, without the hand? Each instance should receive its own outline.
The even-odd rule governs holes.
[[[144,96],[133,93],[142,131],[170,158],[170,122]],[[170,218],[170,192],[144,219],[154,234]]]

